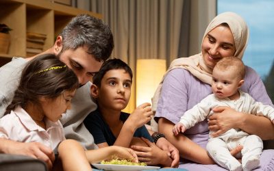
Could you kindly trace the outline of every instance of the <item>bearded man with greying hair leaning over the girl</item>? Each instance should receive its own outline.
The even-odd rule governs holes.
[[[66,138],[81,142],[86,149],[97,148],[92,135],[83,124],[84,118],[97,108],[89,95],[89,81],[103,61],[110,57],[113,47],[112,32],[108,25],[98,18],[82,14],[73,18],[56,38],[53,47],[43,52],[58,55],[79,79],[80,88],[73,98],[72,109],[66,112],[61,122]],[[22,68],[34,57],[14,57],[12,62],[0,68],[0,117],[12,101]],[[167,142],[162,141],[163,144]],[[177,150],[174,150],[174,146],[169,142],[163,148],[171,149],[173,153]],[[54,154],[50,148],[34,142],[21,143],[0,138],[0,153],[27,155],[45,161],[49,167],[54,161]]]

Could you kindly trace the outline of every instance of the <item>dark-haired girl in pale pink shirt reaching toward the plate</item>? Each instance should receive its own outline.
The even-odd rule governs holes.
[[[91,170],[89,163],[108,159],[114,154],[137,161],[135,153],[127,148],[114,146],[104,152],[85,152],[76,141],[64,141],[64,130],[59,119],[67,109],[71,109],[71,99],[78,86],[77,76],[55,55],[36,57],[23,69],[12,103],[0,120],[0,137],[17,142],[40,143],[49,147],[42,149],[49,153],[59,150],[64,170]],[[32,157],[37,158],[35,155]],[[52,153],[51,160],[54,158]]]

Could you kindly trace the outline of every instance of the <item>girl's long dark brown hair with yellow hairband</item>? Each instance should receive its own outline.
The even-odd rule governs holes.
[[[40,97],[54,99],[64,90],[75,90],[78,86],[78,79],[73,70],[55,55],[40,55],[29,61],[23,69],[18,88],[5,114],[10,114],[18,105],[25,109],[28,102],[40,105]]]

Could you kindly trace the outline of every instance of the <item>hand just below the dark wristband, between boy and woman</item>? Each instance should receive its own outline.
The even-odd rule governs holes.
[[[158,141],[156,142],[156,145],[161,148],[162,150],[165,150],[169,157],[173,159],[171,163],[171,167],[177,168],[179,166],[179,150],[173,146],[166,138],[160,137]]]

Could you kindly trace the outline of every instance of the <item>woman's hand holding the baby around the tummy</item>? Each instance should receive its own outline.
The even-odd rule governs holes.
[[[213,137],[217,137],[229,129],[238,128],[242,122],[242,113],[235,111],[230,107],[215,107],[214,114],[209,117],[208,129],[213,131]]]

